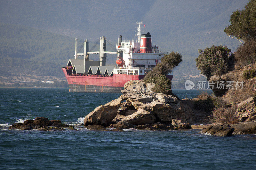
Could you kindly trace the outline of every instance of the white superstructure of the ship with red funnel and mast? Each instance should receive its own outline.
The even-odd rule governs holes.
[[[151,35],[141,34],[143,22],[137,22],[138,42],[125,40],[116,45],[117,52],[122,53],[122,59],[116,61],[118,67],[114,74],[145,75],[161,61],[164,52],[151,45]],[[145,27],[145,25],[144,25]],[[122,38],[122,36],[120,36]]]

